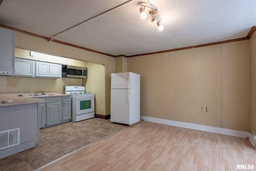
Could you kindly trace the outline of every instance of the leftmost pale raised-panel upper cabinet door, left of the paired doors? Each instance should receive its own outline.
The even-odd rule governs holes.
[[[34,65],[35,65],[34,61],[15,58],[15,70],[14,70],[15,76],[34,77],[35,76]]]

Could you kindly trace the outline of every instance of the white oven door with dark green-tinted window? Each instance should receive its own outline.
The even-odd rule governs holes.
[[[94,112],[94,97],[76,97],[76,115]]]

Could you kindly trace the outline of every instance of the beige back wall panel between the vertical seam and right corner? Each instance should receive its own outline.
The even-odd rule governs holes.
[[[222,123],[250,131],[250,41],[221,45]]]

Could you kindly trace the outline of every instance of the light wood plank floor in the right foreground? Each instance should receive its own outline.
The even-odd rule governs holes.
[[[142,121],[69,155],[42,171],[236,171],[254,165],[245,138]]]

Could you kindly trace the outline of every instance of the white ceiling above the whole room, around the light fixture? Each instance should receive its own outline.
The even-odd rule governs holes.
[[[58,34],[54,40],[110,56],[134,56],[244,38],[256,25],[255,0],[150,3],[158,10],[155,16],[163,20],[162,31],[151,23],[149,14],[144,20],[140,18],[140,5],[148,5],[148,0],[3,0],[0,24],[48,38]]]

